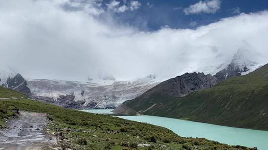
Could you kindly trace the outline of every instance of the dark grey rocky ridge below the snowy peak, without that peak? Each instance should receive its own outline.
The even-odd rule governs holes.
[[[128,101],[128,104],[131,106],[131,109],[140,113],[144,111],[143,108],[152,107],[157,103],[165,103],[167,99],[185,96],[195,90],[212,87],[218,82],[217,78],[212,75],[204,75],[203,73],[196,72],[191,74],[186,73],[159,83],[134,100]],[[128,111],[128,108],[124,107],[123,104],[121,107],[115,109],[114,112],[122,113],[126,109]]]

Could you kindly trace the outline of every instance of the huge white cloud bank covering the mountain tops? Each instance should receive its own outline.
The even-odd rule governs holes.
[[[213,73],[238,49],[249,49],[250,59],[268,63],[268,11],[195,30],[143,32],[113,18],[98,20],[84,9],[68,11],[63,1],[0,1],[0,65],[29,78],[86,80],[99,74],[126,79]]]

